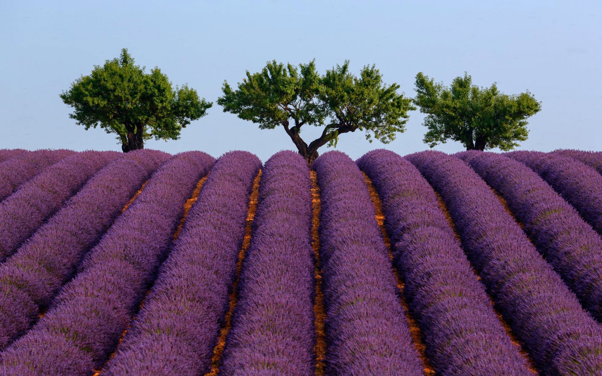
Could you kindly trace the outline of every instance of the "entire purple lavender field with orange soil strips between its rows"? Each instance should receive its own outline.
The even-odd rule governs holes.
[[[602,152],[0,150],[0,376],[602,375]]]

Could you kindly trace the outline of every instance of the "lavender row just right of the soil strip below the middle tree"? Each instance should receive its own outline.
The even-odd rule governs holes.
[[[314,168],[321,190],[326,373],[422,375],[362,173],[335,151],[316,159]]]

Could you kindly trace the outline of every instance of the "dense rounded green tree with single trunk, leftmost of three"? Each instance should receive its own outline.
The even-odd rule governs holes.
[[[144,140],[178,140],[182,128],[205,116],[213,103],[199,99],[187,85],[172,82],[157,67],[145,73],[134,65],[127,49],[119,59],[94,66],[78,78],[61,99],[75,110],[69,114],[79,125],[117,134],[123,152],[143,149]]]

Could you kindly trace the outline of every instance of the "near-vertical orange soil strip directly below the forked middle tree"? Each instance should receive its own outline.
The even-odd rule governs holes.
[[[315,325],[315,376],[324,376],[324,367],[326,365],[326,333],[324,333],[324,319],[326,311],[324,310],[324,294],[322,293],[322,276],[320,273],[320,187],[315,171],[309,171],[311,178],[311,246],[314,248],[314,278],[315,278],[315,301],[314,301],[314,325]]]

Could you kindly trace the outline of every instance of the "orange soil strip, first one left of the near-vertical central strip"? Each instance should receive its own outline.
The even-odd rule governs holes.
[[[238,262],[236,264],[236,279],[234,285],[232,285],[232,292],[230,293],[230,304],[226,317],[224,318],[224,324],[220,330],[220,337],[217,341],[216,347],[213,348],[213,357],[211,357],[211,371],[207,372],[205,376],[216,376],[219,374],[219,366],[222,362],[222,355],[224,348],[226,347],[226,337],[232,328],[232,314],[238,300],[238,282],[240,281],[240,272],[243,269],[244,254],[249,248],[251,242],[251,224],[253,218],[255,218],[255,211],[257,210],[257,201],[259,198],[259,180],[261,180],[262,171],[259,170],[255,180],[253,180],[253,190],[249,199],[249,209],[247,209],[247,224],[244,232],[243,247],[238,252]]]

